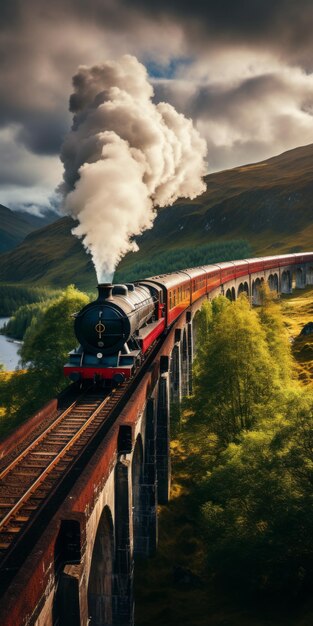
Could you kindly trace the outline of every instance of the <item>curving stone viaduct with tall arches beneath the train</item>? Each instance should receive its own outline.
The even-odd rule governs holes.
[[[313,267],[280,267],[224,284],[235,299],[257,287],[289,293],[313,284]],[[159,354],[0,603],[1,626],[132,626],[136,558],[157,549],[157,506],[170,490],[170,405],[192,389],[193,321],[203,298]],[[34,416],[28,428],[38,421]],[[16,433],[18,437],[19,432]]]

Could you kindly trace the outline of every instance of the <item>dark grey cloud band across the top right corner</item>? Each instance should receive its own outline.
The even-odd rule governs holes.
[[[157,20],[182,24],[195,48],[219,44],[267,45],[301,54],[312,49],[311,0],[121,0]]]

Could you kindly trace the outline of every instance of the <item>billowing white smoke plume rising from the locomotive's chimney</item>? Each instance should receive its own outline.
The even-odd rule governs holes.
[[[206,142],[192,121],[152,102],[146,68],[130,55],[82,66],[73,78],[73,126],[61,153],[63,211],[91,253],[99,282],[111,282],[156,206],[205,191]]]

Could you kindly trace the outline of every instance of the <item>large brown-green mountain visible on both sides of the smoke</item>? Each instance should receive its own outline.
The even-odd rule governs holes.
[[[117,279],[151,275],[154,267],[160,271],[162,255],[167,262],[186,253],[187,264],[190,251],[201,248],[205,262],[214,257],[205,256],[205,251],[214,248],[217,260],[227,243],[235,255],[240,242],[243,251],[250,247],[254,255],[312,249],[313,145],[210,174],[206,182],[201,197],[159,211],[153,229],[137,238],[139,252],[121,262]],[[0,255],[0,281],[36,281],[54,287],[73,282],[94,288],[94,270],[70,233],[73,225],[70,218],[62,218]]]

